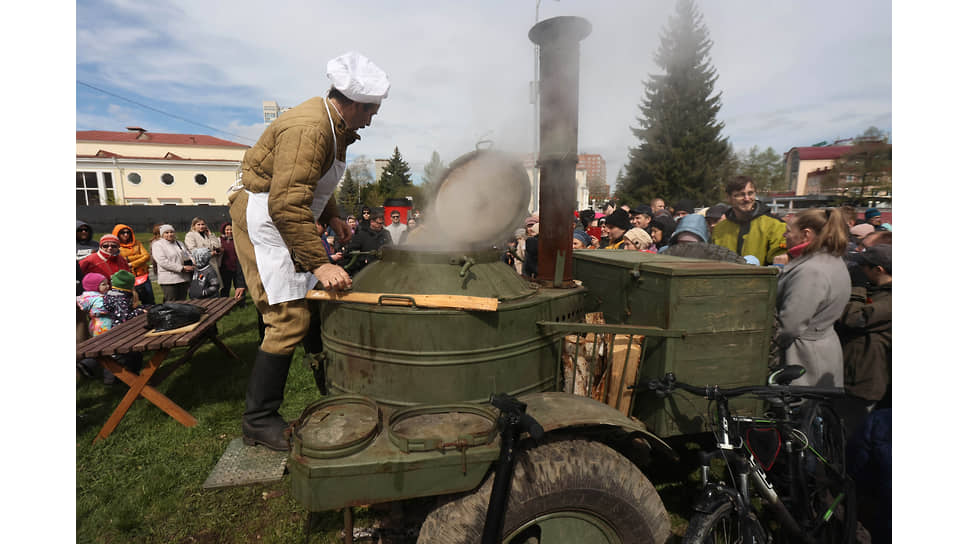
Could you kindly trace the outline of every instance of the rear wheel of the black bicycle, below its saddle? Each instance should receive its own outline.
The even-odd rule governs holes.
[[[857,496],[847,475],[844,427],[823,403],[808,411],[804,427],[817,456],[808,453],[816,462],[800,465],[805,528],[821,542],[850,544],[857,531]]]

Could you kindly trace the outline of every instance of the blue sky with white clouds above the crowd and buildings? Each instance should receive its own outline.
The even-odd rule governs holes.
[[[581,44],[579,148],[605,157],[609,183],[636,144],[629,127],[642,81],[658,71],[652,59],[674,3],[540,3],[541,19],[578,15],[592,23]],[[719,119],[737,151],[757,145],[782,153],[869,126],[892,131],[890,2],[697,4],[714,42]],[[481,139],[530,152],[534,58],[527,33],[535,6],[82,0],[76,128],[137,125],[251,144],[263,129],[263,100],[289,106],[319,95],[329,85],[326,61],[355,49],[389,73],[391,89],[351,156],[389,157],[399,146],[419,174],[433,151],[451,161]]]

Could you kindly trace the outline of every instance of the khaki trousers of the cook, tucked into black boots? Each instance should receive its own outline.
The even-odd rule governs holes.
[[[262,351],[275,355],[291,355],[295,351],[306,331],[309,330],[309,301],[306,299],[291,300],[279,304],[269,304],[259,268],[255,261],[255,248],[249,239],[249,230],[245,219],[246,206],[249,195],[244,190],[237,191],[229,197],[229,215],[232,217],[232,236],[235,238],[235,253],[245,285],[252,295],[255,307],[262,314],[266,324],[266,335],[260,346]]]

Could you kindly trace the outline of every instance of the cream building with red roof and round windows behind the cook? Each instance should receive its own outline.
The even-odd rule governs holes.
[[[76,133],[78,206],[218,205],[241,173],[249,146],[205,134]]]

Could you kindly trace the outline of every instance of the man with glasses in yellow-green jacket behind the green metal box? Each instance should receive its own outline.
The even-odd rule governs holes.
[[[726,184],[730,205],[726,218],[713,228],[712,243],[731,249],[740,256],[752,255],[766,266],[786,261],[786,224],[770,217],[765,204],[756,199],[753,178],[739,176]]]

